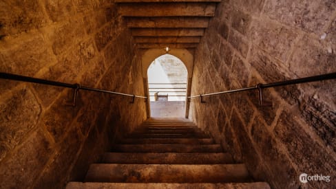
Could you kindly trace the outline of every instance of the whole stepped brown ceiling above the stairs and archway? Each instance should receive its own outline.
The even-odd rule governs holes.
[[[116,0],[138,48],[194,48],[220,0]]]

